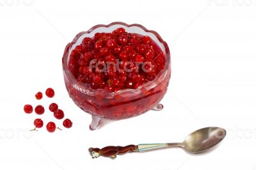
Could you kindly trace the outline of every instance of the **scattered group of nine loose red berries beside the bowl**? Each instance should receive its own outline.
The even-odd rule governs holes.
[[[54,90],[52,88],[46,89],[45,95],[49,98],[54,97]],[[41,100],[43,98],[43,93],[38,92],[38,93],[36,93],[35,97],[37,100]],[[49,105],[49,111],[53,112],[54,117],[58,120],[62,120],[65,116],[64,112],[61,109],[59,109],[58,105],[55,103],[52,103]],[[33,112],[33,106],[29,105],[29,104],[24,105],[24,112],[30,114],[31,112]],[[36,114],[41,115],[41,114],[44,114],[45,109],[42,105],[37,105],[35,107],[35,112],[36,112]],[[36,128],[42,128],[44,126],[44,121],[40,118],[37,118],[34,121],[34,125],[35,125],[35,128],[33,130],[36,130]],[[71,128],[72,121],[70,121],[69,119],[65,119],[63,121],[63,126],[65,128]],[[46,129],[48,130],[48,132],[54,132],[56,130],[56,128],[58,128],[58,127],[56,127],[56,124],[52,121],[50,121],[46,125]],[[60,129],[60,128],[58,128],[58,129]]]

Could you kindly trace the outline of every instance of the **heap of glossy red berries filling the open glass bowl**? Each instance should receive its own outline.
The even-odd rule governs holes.
[[[149,36],[119,27],[112,33],[84,38],[70,53],[68,70],[89,88],[118,91],[153,81],[165,62],[160,47]]]

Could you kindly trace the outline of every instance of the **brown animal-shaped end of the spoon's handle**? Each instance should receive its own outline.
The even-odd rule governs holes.
[[[125,153],[132,153],[138,151],[138,146],[128,145],[128,146],[106,146],[102,149],[99,148],[90,148],[89,149],[92,158],[97,158],[99,156],[116,158],[116,155],[124,155]]]

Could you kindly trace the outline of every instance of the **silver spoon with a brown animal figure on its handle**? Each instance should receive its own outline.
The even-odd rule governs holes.
[[[138,144],[128,146],[106,146],[105,148],[90,148],[92,158],[99,156],[116,158],[116,155],[125,153],[144,152],[159,150],[165,148],[180,147],[190,153],[200,153],[209,150],[216,144],[220,143],[226,136],[226,130],[219,127],[201,128],[189,134],[183,143],[157,143],[157,144]]]

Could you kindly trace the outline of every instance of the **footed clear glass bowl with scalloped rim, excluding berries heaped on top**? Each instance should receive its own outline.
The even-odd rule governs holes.
[[[120,89],[109,92],[106,89],[89,89],[85,84],[77,82],[74,75],[68,70],[70,52],[80,45],[83,38],[92,38],[95,33],[111,33],[118,27],[124,27],[128,33],[147,35],[157,43],[162,50],[166,63],[164,69],[156,75],[153,81],[143,84],[138,89]],[[125,24],[113,22],[108,25],[93,26],[88,31],[79,33],[65,48],[63,58],[63,74],[65,86],[70,98],[83,111],[92,114],[90,129],[99,128],[108,120],[122,120],[132,118],[151,109],[161,110],[163,105],[159,102],[164,97],[171,76],[170,50],[168,45],[156,31],[150,31],[140,24]]]

